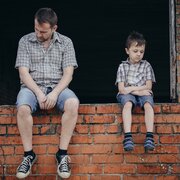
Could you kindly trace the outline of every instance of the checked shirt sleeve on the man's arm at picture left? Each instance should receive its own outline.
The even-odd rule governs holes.
[[[26,47],[25,39],[21,38],[18,45],[15,68],[30,67],[30,57]]]

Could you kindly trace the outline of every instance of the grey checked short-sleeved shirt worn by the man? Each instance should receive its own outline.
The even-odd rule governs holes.
[[[54,32],[51,44],[46,50],[37,41],[35,33],[20,39],[15,68],[29,68],[31,77],[42,90],[43,87],[54,88],[67,66],[78,67],[70,38]],[[21,84],[25,86],[22,82]]]

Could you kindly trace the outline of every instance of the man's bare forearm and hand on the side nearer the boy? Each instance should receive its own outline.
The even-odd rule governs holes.
[[[66,87],[68,87],[69,83],[72,81],[73,72],[74,72],[73,66],[68,66],[63,69],[63,76],[61,80],[53,89],[53,91],[47,95],[47,100],[45,103],[46,109],[51,109],[55,106],[57,102],[57,98],[61,93],[61,91],[63,91]]]

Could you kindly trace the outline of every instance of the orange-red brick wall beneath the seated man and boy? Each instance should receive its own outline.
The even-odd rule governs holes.
[[[0,177],[13,180],[23,147],[14,107],[0,107]],[[54,154],[58,148],[60,115],[34,115],[33,144],[38,161],[27,179],[58,179]],[[118,104],[80,105],[78,123],[69,147],[71,180],[179,180],[180,104],[155,105],[156,150],[145,153],[143,112],[133,115],[135,150],[124,152],[123,126]]]

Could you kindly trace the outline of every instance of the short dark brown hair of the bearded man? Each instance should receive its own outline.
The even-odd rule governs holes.
[[[34,18],[39,24],[49,23],[51,27],[55,26],[58,21],[56,13],[51,8],[40,8]]]

